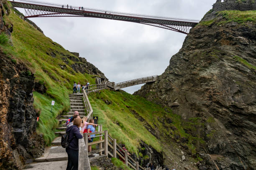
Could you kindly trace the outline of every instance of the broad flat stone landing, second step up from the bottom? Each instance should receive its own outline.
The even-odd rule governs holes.
[[[66,133],[66,132],[65,132]],[[46,147],[44,156],[34,160],[36,163],[67,160],[66,149],[61,146]]]

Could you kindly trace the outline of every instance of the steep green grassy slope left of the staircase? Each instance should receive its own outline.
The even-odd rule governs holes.
[[[14,29],[11,35],[13,46],[10,44],[1,45],[1,49],[8,54],[13,62],[24,62],[34,73],[37,82],[44,84],[46,93],[34,94],[34,107],[40,114],[38,122],[38,132],[44,134],[46,144],[55,138],[54,129],[57,125],[55,117],[61,112],[69,110],[69,93],[72,91],[72,82],[79,81],[82,84],[88,80],[95,82],[92,75],[76,73],[70,67],[72,60],[68,65],[61,60],[65,55],[72,55],[61,45],[53,42],[50,38],[33,28],[30,24],[20,19],[13,12],[7,17],[5,23],[12,23]],[[47,55],[46,52],[54,52],[56,57]],[[72,55],[73,56],[73,55]],[[74,56],[75,57],[75,56]],[[59,65],[65,65],[61,70]],[[28,72],[27,74],[31,74]],[[54,110],[51,113],[51,100],[55,100]]]

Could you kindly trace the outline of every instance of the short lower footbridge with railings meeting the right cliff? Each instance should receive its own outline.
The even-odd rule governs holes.
[[[114,89],[119,90],[121,88],[130,87],[133,85],[139,85],[139,84],[143,84],[143,83],[147,83],[147,82],[155,82],[156,78],[157,78],[157,75],[153,75],[153,76],[137,78],[137,79],[129,80],[129,81],[125,81],[125,82],[119,82],[119,83],[115,84]]]

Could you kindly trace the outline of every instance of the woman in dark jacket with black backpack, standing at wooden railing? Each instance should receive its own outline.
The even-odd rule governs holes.
[[[78,139],[83,138],[79,131],[81,125],[82,119],[77,117],[74,119],[73,126],[68,127],[66,130],[66,133],[69,133],[69,147],[66,148],[68,154],[67,170],[78,170]]]

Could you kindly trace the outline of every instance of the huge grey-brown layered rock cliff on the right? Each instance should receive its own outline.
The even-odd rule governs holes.
[[[218,0],[190,31],[165,72],[135,94],[172,108],[184,120],[199,118],[203,126],[197,135],[205,141],[197,148],[203,158],[200,170],[252,170],[256,167],[256,22],[248,18],[238,22],[232,11],[217,12],[224,8],[256,10],[251,0]]]

